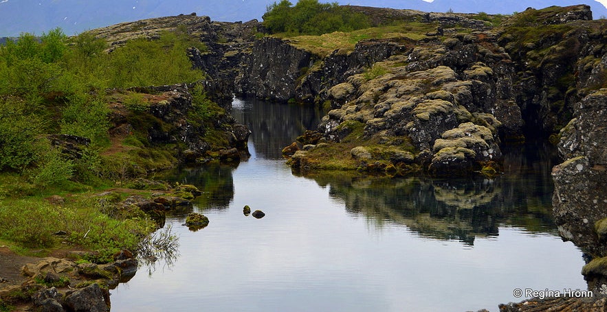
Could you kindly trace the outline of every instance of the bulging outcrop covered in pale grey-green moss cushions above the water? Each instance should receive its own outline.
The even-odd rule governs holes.
[[[495,36],[454,36],[391,51],[395,54],[386,53],[386,60],[375,61],[364,73],[320,92],[333,108],[318,126],[326,141],[342,141],[355,123],[361,123],[368,140],[409,138],[418,155],[424,155],[416,161],[443,175],[480,170],[483,163],[499,161],[499,134],[522,136],[521,113],[510,98],[511,60],[496,45]],[[507,117],[501,122],[498,116]],[[467,139],[450,139],[453,136]],[[402,163],[399,157],[390,160],[386,168]],[[364,161],[373,163],[375,158]]]

